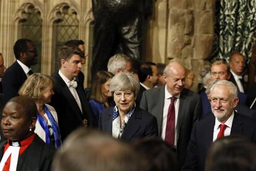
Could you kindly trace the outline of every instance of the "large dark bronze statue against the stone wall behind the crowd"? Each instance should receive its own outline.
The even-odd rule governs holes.
[[[155,0],[92,0],[95,26],[93,33],[92,73],[106,70],[117,53],[140,59],[143,21],[151,14]]]

